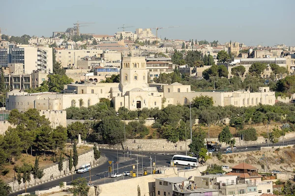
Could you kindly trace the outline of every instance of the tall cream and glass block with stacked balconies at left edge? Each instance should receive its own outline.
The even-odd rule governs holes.
[[[43,46],[9,45],[0,49],[0,66],[7,67],[8,63],[23,63],[24,74],[31,74],[33,70],[44,70],[52,73],[52,49]]]

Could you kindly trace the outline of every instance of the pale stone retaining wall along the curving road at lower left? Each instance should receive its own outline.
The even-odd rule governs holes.
[[[95,161],[95,159],[94,159],[93,148],[91,148],[89,151],[87,151],[79,156],[77,168],[79,168],[81,165],[84,165],[87,163],[90,163],[92,165],[92,167],[100,163],[100,159],[98,159],[97,161]],[[31,180],[30,180],[30,182],[27,182],[27,188],[35,186],[35,185],[39,185],[39,184],[42,184],[45,182],[49,182],[51,180],[55,180],[55,179],[58,179],[58,178],[66,176],[66,175],[70,175],[70,174],[74,173],[74,168],[72,168],[72,170],[69,171],[67,160],[64,160],[62,162],[62,170],[61,171],[59,171],[58,164],[54,164],[53,166],[50,166],[47,168],[42,168],[42,169],[43,169],[44,175],[41,179],[35,180],[33,178],[33,175],[30,174]],[[12,188],[13,192],[25,189],[25,186],[26,186],[25,183],[23,183],[23,182],[21,184],[18,184],[17,180],[15,180],[14,182],[8,183],[8,185]]]

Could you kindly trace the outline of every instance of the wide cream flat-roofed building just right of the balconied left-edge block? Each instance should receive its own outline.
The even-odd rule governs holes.
[[[102,50],[56,50],[56,61],[61,63],[62,67],[75,67],[77,61],[86,56],[102,57]]]

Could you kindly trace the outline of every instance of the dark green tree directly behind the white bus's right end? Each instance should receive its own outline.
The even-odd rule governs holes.
[[[206,133],[202,129],[198,129],[193,133],[192,143],[189,144],[190,152],[199,154],[200,150],[205,147]]]

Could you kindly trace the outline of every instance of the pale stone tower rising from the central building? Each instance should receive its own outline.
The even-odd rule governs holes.
[[[133,88],[141,88],[144,91],[148,91],[148,70],[144,56],[123,57],[119,86],[122,95]]]

